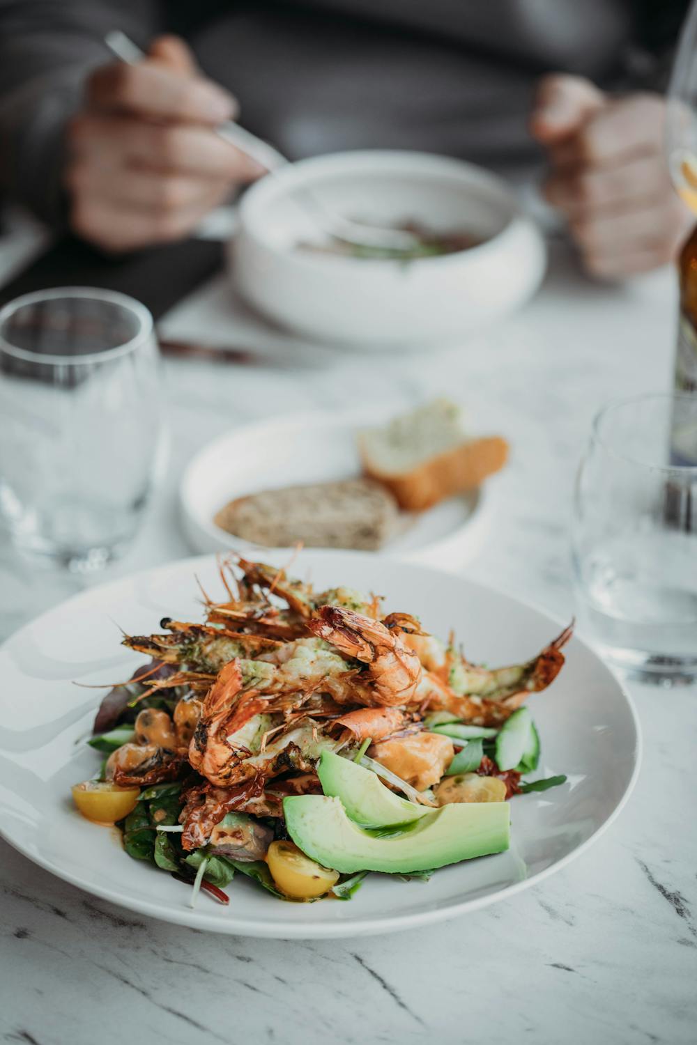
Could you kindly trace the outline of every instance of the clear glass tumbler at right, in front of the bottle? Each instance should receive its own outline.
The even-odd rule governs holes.
[[[697,396],[606,407],[579,469],[573,527],[582,629],[644,681],[697,679]]]

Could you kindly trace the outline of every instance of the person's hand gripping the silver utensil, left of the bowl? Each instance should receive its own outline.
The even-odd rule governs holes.
[[[67,132],[71,228],[108,251],[186,235],[263,173],[212,130],[236,110],[176,37],[155,41],[139,65],[97,69]]]

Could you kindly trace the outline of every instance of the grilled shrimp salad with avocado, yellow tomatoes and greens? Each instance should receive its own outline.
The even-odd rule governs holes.
[[[123,638],[150,659],[101,701],[101,769],[72,789],[191,904],[227,904],[235,875],[296,902],[348,900],[370,873],[427,879],[507,849],[509,799],[565,781],[524,780],[540,747],[524,702],[571,627],[492,669],[377,597],[242,558],[220,579],[204,623]]]

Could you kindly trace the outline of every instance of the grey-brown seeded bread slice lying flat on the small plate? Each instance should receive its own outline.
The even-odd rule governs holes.
[[[302,541],[306,548],[376,551],[389,539],[397,504],[368,479],[286,486],[237,497],[213,521],[228,533],[269,548]]]

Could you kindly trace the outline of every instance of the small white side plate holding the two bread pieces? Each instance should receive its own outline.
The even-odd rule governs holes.
[[[385,410],[384,419],[395,411]],[[196,552],[237,551],[263,558],[268,549],[241,540],[213,521],[233,497],[296,483],[324,483],[361,474],[355,432],[379,423],[371,410],[347,414],[292,414],[226,432],[187,466],[179,488],[182,525]],[[450,497],[427,512],[402,512],[395,536],[381,554],[437,565],[461,565],[479,551],[486,534],[486,494],[481,487]]]

